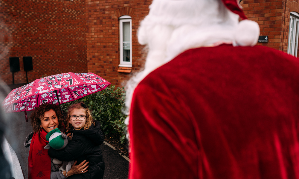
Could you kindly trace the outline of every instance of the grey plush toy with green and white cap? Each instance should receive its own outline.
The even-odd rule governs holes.
[[[46,145],[45,149],[50,149],[52,147],[56,150],[64,149],[65,146],[68,144],[68,142],[71,140],[67,135],[63,134],[59,129],[54,129],[48,132],[46,135],[47,141],[49,141],[49,144]],[[59,168],[59,170],[68,172],[71,169],[72,164],[74,164],[74,161],[60,161],[56,158],[53,159],[53,163],[55,165],[60,165],[62,163],[62,166]]]

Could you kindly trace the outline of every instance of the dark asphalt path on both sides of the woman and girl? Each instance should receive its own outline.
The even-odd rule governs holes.
[[[15,88],[17,87],[17,85],[14,85],[13,87]],[[30,116],[31,113],[32,111],[28,111],[27,115]],[[25,122],[24,112],[10,113],[8,114],[7,118],[10,120],[7,124],[7,131],[5,132],[5,137],[16,152],[16,155],[18,156],[19,162],[27,179],[27,161],[29,148],[24,147],[24,140],[26,136],[30,132],[32,132],[30,119],[28,119],[28,123]],[[103,157],[106,165],[104,179],[128,178],[129,162],[109,146],[102,144],[101,147],[103,150]]]

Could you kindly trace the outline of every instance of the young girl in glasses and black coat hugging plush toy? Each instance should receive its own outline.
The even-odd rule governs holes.
[[[90,110],[83,103],[71,105],[68,109],[68,123],[66,128],[71,131],[71,141],[62,150],[53,148],[48,150],[49,156],[60,161],[89,162],[87,172],[72,175],[69,178],[102,179],[105,163],[100,144],[104,141],[100,123],[92,119]],[[64,171],[63,175],[67,176]]]

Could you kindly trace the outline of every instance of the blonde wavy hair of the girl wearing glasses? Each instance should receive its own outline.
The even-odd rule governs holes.
[[[95,124],[88,107],[86,107],[86,105],[83,102],[80,102],[80,103],[73,104],[68,108],[68,121],[66,121],[66,129],[71,130],[72,125],[69,123],[69,121],[71,120],[70,117],[71,112],[74,109],[85,109],[86,123],[80,129],[84,128],[84,130],[86,130],[89,129],[91,124]]]

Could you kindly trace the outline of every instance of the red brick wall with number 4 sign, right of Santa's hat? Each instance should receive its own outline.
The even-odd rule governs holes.
[[[290,12],[299,11],[298,0],[243,0],[241,2],[248,19],[260,25],[260,36],[268,36],[268,46],[287,52]]]

